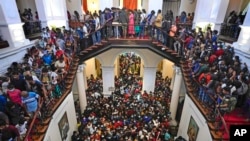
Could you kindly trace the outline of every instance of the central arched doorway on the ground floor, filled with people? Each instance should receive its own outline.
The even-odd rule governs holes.
[[[130,95],[142,90],[143,60],[135,52],[124,52],[117,56],[115,69],[115,89],[117,94]]]

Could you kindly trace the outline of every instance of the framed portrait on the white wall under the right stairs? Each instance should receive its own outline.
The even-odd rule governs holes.
[[[199,127],[195,122],[194,118],[191,116],[187,130],[189,141],[196,141],[198,132],[199,132]]]

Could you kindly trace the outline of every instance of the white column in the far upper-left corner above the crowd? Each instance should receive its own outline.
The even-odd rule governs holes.
[[[7,40],[10,47],[22,47],[30,44],[25,38],[23,23],[15,0],[1,0],[0,2],[0,35]]]

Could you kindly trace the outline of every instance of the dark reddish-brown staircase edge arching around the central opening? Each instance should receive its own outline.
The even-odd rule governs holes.
[[[78,25],[77,23],[74,23]],[[207,120],[207,125],[210,129],[210,134],[212,136],[213,141],[229,141],[229,125],[231,124],[250,124],[248,121],[235,122],[229,119],[224,119],[224,117],[219,116],[216,120],[211,120],[208,115],[211,115],[211,108],[204,105],[202,102],[198,100],[196,94],[198,93],[198,87],[194,85],[194,81],[190,77],[191,69],[189,64],[191,63],[189,60],[184,60],[183,56],[181,56],[176,51],[162,45],[161,43],[155,42],[154,40],[148,39],[117,39],[117,38],[107,38],[106,40],[102,40],[99,45],[90,45],[87,48],[81,49],[77,51],[77,53],[73,56],[73,62],[71,64],[69,73],[65,76],[65,90],[63,91],[63,95],[59,99],[53,99],[50,102],[43,104],[40,109],[43,111],[42,116],[40,118],[34,118],[32,121],[32,126],[29,128],[27,140],[30,141],[42,141],[46,131],[48,129],[51,117],[53,113],[60,106],[61,102],[65,99],[65,97],[72,91],[72,85],[75,78],[75,74],[77,71],[77,67],[79,62],[84,62],[92,57],[95,57],[98,54],[101,54],[105,51],[108,51],[112,48],[139,48],[139,49],[148,49],[151,50],[158,55],[166,58],[172,62],[174,62],[177,66],[181,67],[187,94],[196,104],[200,112]],[[219,127],[219,123],[222,123],[222,126]]]

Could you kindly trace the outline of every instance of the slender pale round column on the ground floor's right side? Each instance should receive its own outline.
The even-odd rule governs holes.
[[[174,86],[172,91],[171,103],[170,103],[170,112],[172,125],[176,125],[175,116],[176,111],[179,103],[179,96],[180,96],[180,89],[181,89],[181,82],[182,82],[182,73],[179,67],[175,67],[175,78],[174,78]]]

